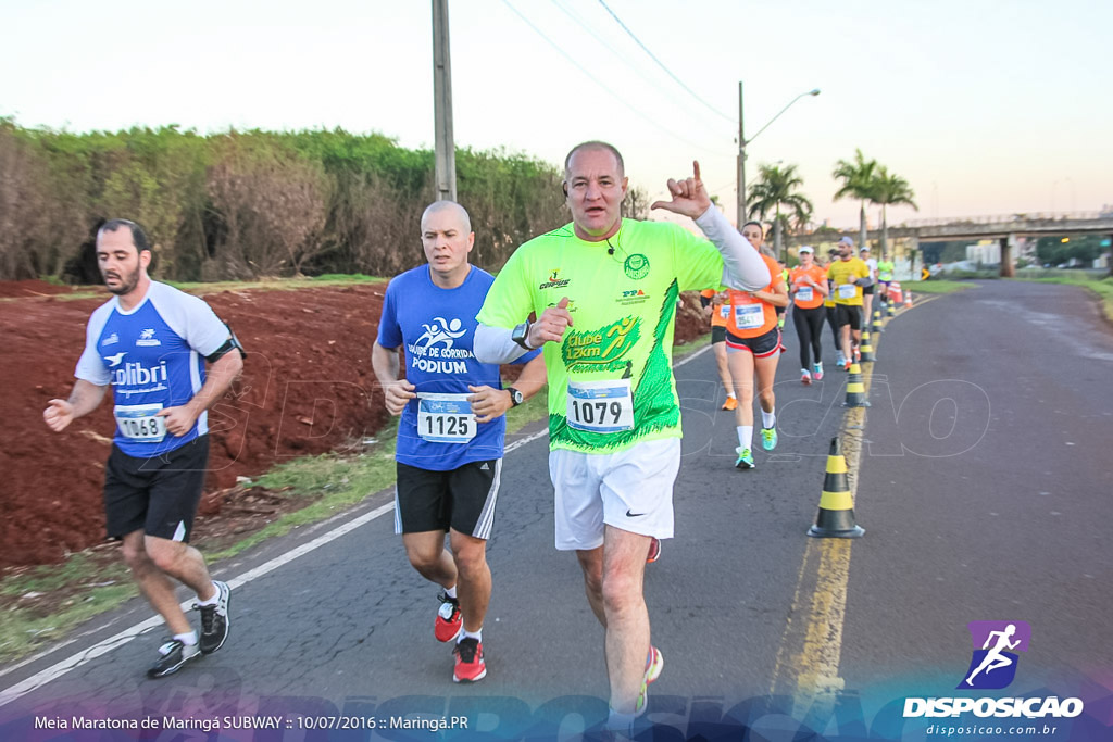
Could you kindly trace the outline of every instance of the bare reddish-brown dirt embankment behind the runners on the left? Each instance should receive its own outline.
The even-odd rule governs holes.
[[[205,294],[248,350],[242,378],[209,412],[211,448],[201,513],[220,518],[237,476],[283,461],[359,448],[387,418],[371,368],[385,284]],[[89,290],[89,289],[86,289]],[[107,402],[61,434],[42,422],[65,398],[96,299],[68,287],[0,283],[0,568],[59,561],[104,540],[105,459],[115,421]],[[695,295],[677,314],[677,342],[707,332]]]

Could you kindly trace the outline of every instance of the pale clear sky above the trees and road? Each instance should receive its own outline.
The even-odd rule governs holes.
[[[748,137],[819,88],[747,160],[748,182],[760,164],[797,165],[817,224],[857,225],[830,177],[856,147],[916,192],[919,211],[892,209],[890,225],[1113,204],[1110,0],[607,4],[699,99],[599,0],[450,0],[456,146],[560,164],[604,139],[651,198],[697,158],[733,217],[739,81]],[[28,127],[433,144],[429,0],[0,0],[0,116]]]

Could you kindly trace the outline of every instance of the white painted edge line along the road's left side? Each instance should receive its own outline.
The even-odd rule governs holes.
[[[695,357],[703,354],[705,352],[707,352],[710,347],[711,346],[706,346],[706,347],[703,347],[703,348],[701,348],[699,350],[696,350],[695,353],[691,353],[691,354],[684,356],[681,360],[678,360],[676,364],[673,364],[673,368],[679,368],[680,366],[683,366],[686,363],[688,363],[692,358],[695,358]],[[518,448],[521,448],[522,446],[524,446],[524,445],[526,445],[529,443],[533,443],[538,438],[542,438],[542,437],[545,437],[548,435],[549,435],[549,428],[546,426],[545,428],[539,431],[538,433],[529,435],[529,436],[526,436],[524,438],[521,438],[521,439],[515,441],[514,443],[508,445],[503,449],[503,456],[505,456],[506,454],[511,453],[512,451],[516,451]],[[268,572],[273,572],[274,570],[277,570],[278,567],[283,566],[284,564],[293,562],[297,557],[303,556],[305,554],[308,554],[309,552],[315,551],[315,550],[324,546],[325,544],[327,544],[331,541],[335,541],[336,538],[339,538],[344,534],[346,534],[346,533],[348,533],[351,531],[354,531],[354,530],[358,528],[359,526],[362,526],[362,525],[364,525],[366,523],[371,523],[372,521],[374,521],[377,517],[386,515],[387,513],[392,512],[393,509],[394,509],[394,503],[392,502],[392,503],[388,503],[386,505],[382,505],[380,507],[376,507],[375,509],[371,511],[370,513],[364,513],[363,515],[361,515],[359,517],[355,518],[354,521],[348,521],[344,525],[337,526],[337,527],[333,528],[332,531],[329,531],[328,533],[322,534],[321,536],[317,536],[313,541],[306,542],[306,543],[302,544],[301,546],[298,546],[297,548],[292,550],[292,551],[287,552],[286,554],[283,554],[282,556],[278,556],[276,558],[270,560],[266,564],[260,564],[259,566],[255,567],[254,570],[249,570],[249,571],[245,572],[244,574],[239,575],[238,577],[233,577],[233,578],[228,580],[227,581],[228,582],[228,586],[232,587],[233,590],[235,590],[236,587],[242,587],[243,585],[246,585],[250,581],[256,580],[258,577],[262,577],[263,575],[267,574]],[[181,610],[183,611],[190,610],[190,607],[193,606],[195,600],[196,598],[190,598],[190,600],[186,601],[185,603],[183,603],[181,604]],[[19,698],[21,698],[23,695],[27,695],[31,691],[35,691],[35,690],[38,690],[38,689],[42,687],[47,683],[50,683],[50,682],[52,682],[52,681],[61,677],[62,675],[65,675],[66,673],[68,673],[70,670],[75,670],[77,667],[80,667],[81,665],[83,665],[85,663],[89,662],[90,660],[95,660],[95,659],[99,657],[100,655],[115,650],[117,646],[119,646],[121,644],[125,644],[127,642],[130,642],[136,636],[139,636],[140,634],[142,634],[142,633],[145,633],[145,632],[147,632],[147,631],[149,631],[151,629],[154,629],[155,626],[158,626],[161,623],[162,623],[162,617],[161,616],[158,616],[158,615],[151,616],[150,619],[147,619],[142,623],[138,623],[138,624],[131,626],[130,629],[125,629],[124,631],[121,631],[120,633],[116,634],[115,636],[109,636],[108,639],[102,640],[101,642],[99,642],[97,644],[93,644],[88,650],[79,652],[78,654],[73,654],[73,655],[71,655],[71,656],[62,660],[61,662],[58,662],[58,663],[56,663],[56,664],[47,667],[46,670],[39,671],[38,673],[36,673],[36,674],[31,675],[30,677],[28,677],[27,680],[22,681],[21,683],[17,683],[16,685],[12,685],[11,687],[8,687],[8,689],[4,689],[3,691],[0,691],[0,706],[4,706],[4,705],[11,703],[12,701],[16,701]],[[68,643],[70,643],[70,642],[66,642],[61,646],[65,646]],[[14,665],[13,667],[9,667],[8,670],[6,670],[2,673],[0,673],[0,675],[10,673],[10,672],[17,670],[18,667],[21,667],[21,666],[26,665],[29,662],[33,662],[35,660],[37,660],[39,657],[42,657],[42,656],[46,656],[46,655],[50,654],[51,652],[57,652],[58,649],[59,647],[53,647],[53,649],[51,649],[51,650],[49,650],[47,652],[43,652],[41,654],[37,654],[33,657],[30,657],[30,659],[28,659],[28,660],[26,660],[26,661],[17,664],[17,665]]]

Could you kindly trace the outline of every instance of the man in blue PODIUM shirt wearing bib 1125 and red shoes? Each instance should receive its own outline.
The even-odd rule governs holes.
[[[421,238],[429,265],[391,281],[371,358],[386,409],[402,415],[394,530],[414,568],[444,588],[434,635],[456,640],[452,680],[475,682],[486,676],[486,540],[499,495],[503,415],[544,385],[545,368],[540,352],[522,356],[521,376],[503,389],[499,366],[472,353],[475,315],[494,277],[467,263],[475,241],[467,211],[452,201],[432,204],[422,215]]]

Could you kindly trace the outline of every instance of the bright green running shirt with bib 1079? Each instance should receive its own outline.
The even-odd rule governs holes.
[[[613,255],[607,241],[577,237],[571,224],[531,239],[499,271],[476,316],[490,327],[509,328],[569,298],[573,324],[560,345],[546,343],[543,350],[553,448],[612,454],[681,436],[672,377],[677,299],[680,291],[719,287],[722,255],[703,237],[667,221],[623,219],[609,243]],[[570,380],[588,390],[570,397]],[[614,384],[592,384],[608,382]],[[599,399],[594,387],[609,394],[627,383],[626,403],[614,397],[590,403]],[[585,410],[594,416],[588,421],[593,426],[570,424],[570,410],[579,409],[573,400],[600,406]]]

